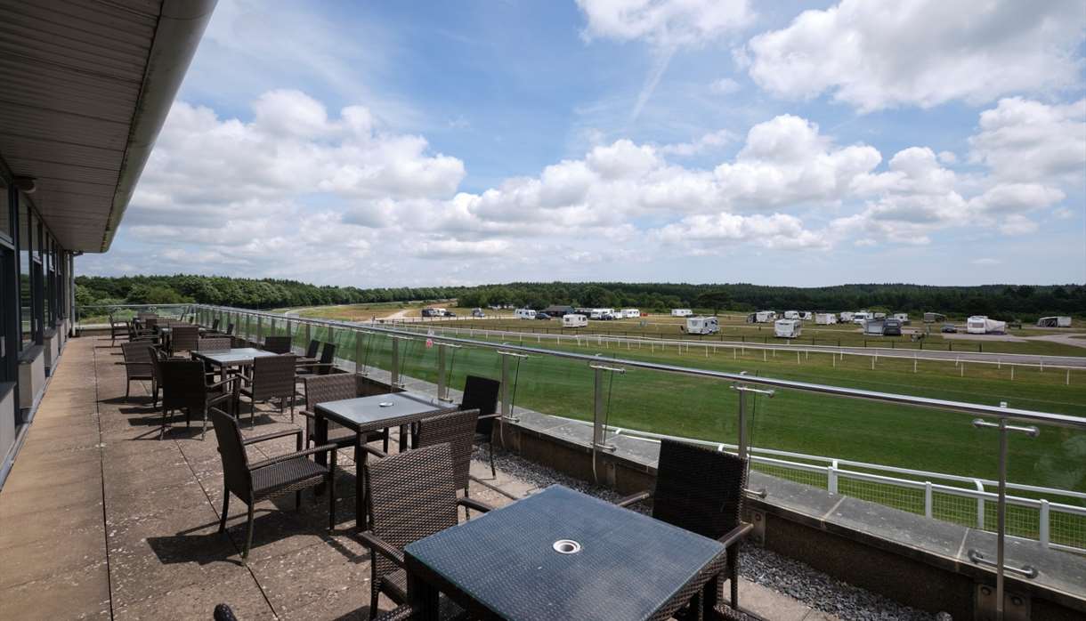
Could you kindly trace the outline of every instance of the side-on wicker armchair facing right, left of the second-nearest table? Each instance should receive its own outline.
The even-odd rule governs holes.
[[[245,549],[241,553],[243,563],[247,562],[249,548],[253,544],[253,505],[265,498],[274,498],[293,492],[295,506],[301,506],[302,490],[326,483],[328,486],[328,530],[336,529],[334,444],[303,451],[301,429],[243,440],[241,429],[233,417],[218,408],[211,409],[211,417],[215,426],[215,438],[218,440],[218,454],[223,458],[223,514],[218,522],[218,532],[226,530],[226,518],[230,510],[230,494],[249,506]],[[249,462],[245,446],[290,435],[298,438],[296,453],[272,457],[256,464]],[[318,453],[330,454],[328,467],[307,459],[310,455]]]

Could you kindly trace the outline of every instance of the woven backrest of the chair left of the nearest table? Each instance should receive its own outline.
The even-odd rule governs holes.
[[[369,499],[374,534],[403,549],[407,544],[456,525],[456,487],[449,444],[407,451],[369,461]],[[396,567],[374,555],[374,571]]]

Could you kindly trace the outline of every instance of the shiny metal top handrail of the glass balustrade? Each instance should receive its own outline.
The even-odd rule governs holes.
[[[257,317],[275,317],[281,319],[285,315],[265,313],[262,310],[251,310],[247,308],[233,308],[229,306],[213,306],[205,304],[194,305],[195,307],[209,308],[212,310],[220,310],[224,313],[243,313],[250,314]],[[351,330],[356,330],[359,332],[368,333],[381,333],[389,335],[400,335],[400,337],[418,337],[417,332],[411,330],[397,330],[393,328],[383,328],[377,326],[359,326],[357,324],[352,324],[349,321],[334,321],[329,319],[312,319],[304,317],[290,317],[291,321],[296,321],[299,324],[311,324],[316,326],[326,326],[333,328],[346,328]],[[464,339],[460,337],[430,337],[434,341],[442,341],[447,343],[456,343],[460,345],[468,345],[472,347],[480,347],[487,350],[503,350],[507,352],[519,352],[530,355],[539,356],[554,356],[559,358],[582,360],[585,363],[598,364],[601,358],[598,356],[579,354],[576,352],[565,352],[558,350],[547,350],[543,347],[530,347],[525,345],[514,345],[512,343],[492,343],[489,341],[477,341],[475,339]],[[811,392],[819,394],[829,394],[834,396],[843,396],[848,398],[859,398],[867,401],[875,401],[880,403],[891,403],[896,405],[911,405],[917,407],[930,407],[934,409],[944,409],[949,411],[960,411],[980,416],[988,416],[993,418],[1006,418],[1008,420],[1019,420],[1019,421],[1034,421],[1043,422],[1045,424],[1055,424],[1059,427],[1069,427],[1073,429],[1084,429],[1086,430],[1086,418],[1079,416],[1072,416],[1066,414],[1055,414],[1047,411],[1037,411],[1032,409],[1022,409],[1014,407],[1000,407],[999,405],[984,405],[974,403],[964,403],[958,401],[949,401],[942,398],[931,398],[921,397],[912,395],[904,395],[897,393],[885,393],[879,391],[869,391],[862,389],[850,389],[842,386],[832,386],[826,384],[817,384],[810,382],[800,382],[795,380],[782,380],[769,377],[755,377],[742,373],[732,373],[727,371],[715,371],[710,369],[699,369],[695,367],[683,367],[679,365],[665,365],[660,363],[649,363],[645,360],[634,360],[627,358],[607,358],[607,362],[615,365],[621,365],[624,367],[712,378],[723,381],[741,382],[745,384],[756,384],[769,388],[796,390],[803,392]]]

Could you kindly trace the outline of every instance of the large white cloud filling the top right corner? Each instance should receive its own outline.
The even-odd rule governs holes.
[[[740,60],[786,98],[829,92],[862,112],[1079,84],[1078,0],[842,0],[750,39]]]

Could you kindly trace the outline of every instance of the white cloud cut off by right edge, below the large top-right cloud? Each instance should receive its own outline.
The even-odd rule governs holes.
[[[1086,177],[1086,99],[1049,105],[1020,97],[981,113],[970,162],[1005,180],[1078,181]]]

